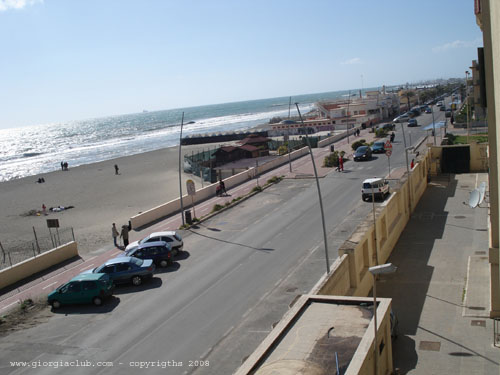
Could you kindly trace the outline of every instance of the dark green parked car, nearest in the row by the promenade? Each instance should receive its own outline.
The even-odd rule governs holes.
[[[100,306],[105,298],[113,294],[113,289],[113,281],[104,273],[80,274],[51,292],[47,302],[54,309],[78,303]]]

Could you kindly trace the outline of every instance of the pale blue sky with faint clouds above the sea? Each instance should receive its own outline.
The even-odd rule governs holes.
[[[0,128],[464,77],[473,0],[0,0]]]

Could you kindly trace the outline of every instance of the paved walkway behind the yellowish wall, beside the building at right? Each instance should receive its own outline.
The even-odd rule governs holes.
[[[498,374],[489,319],[488,208],[464,202],[486,174],[432,179],[387,262],[377,295],[393,299],[401,374]]]

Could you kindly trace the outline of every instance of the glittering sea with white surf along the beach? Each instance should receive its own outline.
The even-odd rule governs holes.
[[[291,114],[295,102],[306,113],[315,102],[348,92],[294,96]],[[0,129],[0,182],[55,171],[62,161],[71,168],[176,146],[183,112],[185,137],[251,129],[287,117],[289,103],[281,97]]]

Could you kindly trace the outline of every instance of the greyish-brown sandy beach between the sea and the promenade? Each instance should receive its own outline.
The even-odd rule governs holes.
[[[182,153],[217,147],[218,144],[183,146]],[[127,224],[131,216],[168,202],[179,196],[178,147],[126,156],[104,162],[69,166],[21,179],[0,183],[0,242],[6,251],[23,241],[34,240],[37,234],[48,237],[46,219],[59,219],[61,228],[73,227],[80,254],[102,250],[113,244],[111,224]],[[59,165],[60,161],[54,161]],[[119,167],[115,174],[114,165]],[[39,177],[45,183],[37,183]],[[201,187],[199,177],[182,174]],[[204,182],[205,185],[207,182]],[[47,215],[26,215],[41,211]],[[74,206],[61,212],[50,207]],[[132,237],[133,238],[133,237]],[[31,247],[31,246],[30,246]]]

